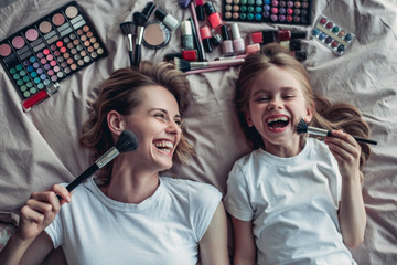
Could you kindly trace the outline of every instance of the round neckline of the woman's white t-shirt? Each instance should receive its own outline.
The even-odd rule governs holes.
[[[157,188],[154,193],[151,197],[149,197],[148,199],[146,199],[144,201],[137,203],[137,204],[119,202],[119,201],[115,201],[115,200],[108,198],[107,195],[104,194],[104,192],[95,183],[94,178],[90,178],[87,181],[86,187],[89,191],[92,191],[94,193],[94,195],[96,198],[98,198],[98,200],[100,202],[103,202],[105,205],[107,205],[114,210],[140,212],[140,211],[146,211],[146,210],[157,205],[157,203],[159,202],[159,197],[161,197],[161,194],[164,192],[163,191],[164,184],[162,183],[161,178],[159,178],[159,181],[160,181],[159,187]]]

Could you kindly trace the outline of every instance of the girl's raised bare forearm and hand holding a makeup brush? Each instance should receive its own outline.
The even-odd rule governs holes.
[[[339,211],[341,232],[347,247],[356,247],[364,240],[366,213],[361,188],[360,155],[357,141],[342,130],[333,130],[335,137],[326,137],[325,144],[335,157],[342,174],[342,198]]]

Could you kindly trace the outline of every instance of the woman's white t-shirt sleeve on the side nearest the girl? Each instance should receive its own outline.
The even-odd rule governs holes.
[[[190,182],[187,191],[190,199],[190,219],[196,235],[196,241],[200,242],[219,205],[222,193],[211,184],[198,182]]]

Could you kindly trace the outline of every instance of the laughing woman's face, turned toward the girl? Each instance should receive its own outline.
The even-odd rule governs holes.
[[[141,104],[126,117],[126,129],[133,131],[139,141],[132,153],[139,166],[153,171],[170,169],[182,134],[178,102],[162,86],[148,86],[141,93]]]

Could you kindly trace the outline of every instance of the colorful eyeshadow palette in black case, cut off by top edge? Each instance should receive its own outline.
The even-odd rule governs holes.
[[[310,25],[312,0],[224,0],[225,21]]]

